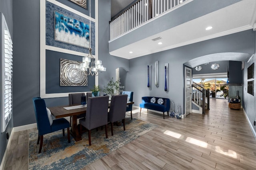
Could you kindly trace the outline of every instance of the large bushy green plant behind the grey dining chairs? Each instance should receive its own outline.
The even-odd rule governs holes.
[[[104,86],[104,89],[102,91],[109,96],[113,96],[120,94],[123,89],[124,86],[121,86],[120,78],[114,81],[112,77],[111,80],[108,82],[107,86]]]

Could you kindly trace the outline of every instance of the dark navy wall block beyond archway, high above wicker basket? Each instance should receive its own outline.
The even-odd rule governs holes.
[[[229,70],[228,71],[229,71],[229,83],[230,84],[243,83],[242,62],[241,61],[229,61]]]

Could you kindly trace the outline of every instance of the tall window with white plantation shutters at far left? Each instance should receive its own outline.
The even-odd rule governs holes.
[[[12,39],[10,32],[1,13],[1,132],[6,130],[6,127],[12,116]]]

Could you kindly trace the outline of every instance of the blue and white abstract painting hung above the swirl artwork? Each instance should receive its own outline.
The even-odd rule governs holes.
[[[90,47],[90,25],[55,11],[55,40]]]

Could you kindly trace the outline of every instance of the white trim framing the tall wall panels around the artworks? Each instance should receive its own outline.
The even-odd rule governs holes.
[[[77,10],[74,10],[73,8],[70,8],[60,2],[57,2],[56,0],[47,0],[48,2],[51,2],[53,4],[56,4],[66,10],[69,10],[70,12],[73,12],[74,14],[77,14],[79,16],[82,16],[88,20],[90,20],[90,16],[87,16],[81,12],[78,12]],[[61,49],[58,47],[51,47],[49,45],[46,45],[45,42],[45,33],[46,33],[46,18],[45,18],[45,4],[46,0],[40,0],[40,97],[41,98],[59,98],[59,97],[68,97],[69,93],[52,93],[52,94],[46,94],[46,73],[45,73],[45,67],[46,67],[46,49],[52,50],[52,51],[58,51],[62,53],[69,53],[72,55],[79,55],[84,56],[85,53],[80,53],[76,51],[71,51],[67,49]],[[91,21],[95,22],[95,59],[98,59],[98,0],[95,1],[95,19],[91,18]],[[98,85],[98,76],[95,76],[95,85]]]

